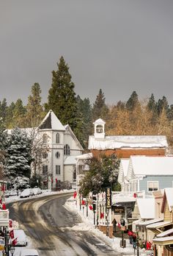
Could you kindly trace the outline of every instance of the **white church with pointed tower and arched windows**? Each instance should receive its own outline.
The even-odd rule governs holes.
[[[40,171],[40,175],[45,177],[45,183],[49,182],[55,188],[59,181],[76,182],[76,156],[81,155],[84,149],[70,126],[63,126],[50,110],[38,127],[38,133],[48,149],[43,154]]]

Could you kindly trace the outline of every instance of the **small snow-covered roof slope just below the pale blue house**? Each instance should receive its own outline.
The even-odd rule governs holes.
[[[155,199],[136,199],[141,218],[155,218]],[[146,210],[147,209],[147,210]]]

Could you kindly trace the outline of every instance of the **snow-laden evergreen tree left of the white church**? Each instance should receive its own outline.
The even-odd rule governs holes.
[[[31,140],[21,129],[12,129],[7,137],[7,149],[4,174],[7,178],[13,179],[17,176],[31,176]]]

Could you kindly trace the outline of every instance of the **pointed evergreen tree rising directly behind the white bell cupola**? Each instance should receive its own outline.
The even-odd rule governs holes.
[[[108,107],[105,103],[105,96],[102,90],[99,90],[99,93],[95,99],[95,103],[92,107],[92,121],[97,120],[98,118],[103,118],[106,120],[108,115]]]

